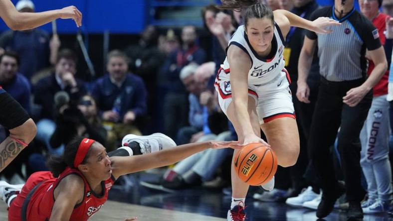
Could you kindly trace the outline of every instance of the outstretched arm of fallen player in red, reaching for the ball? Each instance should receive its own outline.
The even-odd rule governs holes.
[[[112,175],[117,179],[121,175],[135,173],[157,167],[168,166],[209,148],[241,148],[237,141],[206,141],[184,144],[162,151],[138,156],[111,157]]]

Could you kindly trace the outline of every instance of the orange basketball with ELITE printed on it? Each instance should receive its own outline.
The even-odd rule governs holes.
[[[242,181],[259,186],[267,183],[276,173],[277,157],[269,147],[250,143],[237,152],[234,167]]]

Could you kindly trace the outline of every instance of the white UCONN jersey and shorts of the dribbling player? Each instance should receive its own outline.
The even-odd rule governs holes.
[[[289,89],[291,80],[284,68],[284,42],[281,30],[275,24],[272,51],[267,58],[261,58],[252,48],[244,25],[237,28],[228,43],[228,47],[230,45],[239,47],[250,57],[252,65],[248,71],[248,96],[255,99],[260,124],[280,117],[295,118]],[[232,102],[228,58],[225,58],[224,63],[220,66],[214,85],[218,92],[221,110],[227,114],[226,110]]]

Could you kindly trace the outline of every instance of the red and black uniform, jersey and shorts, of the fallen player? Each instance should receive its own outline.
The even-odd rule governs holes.
[[[32,174],[23,186],[20,194],[12,201],[8,212],[8,221],[48,221],[52,213],[54,190],[60,181],[68,175],[78,175],[85,183],[83,200],[75,205],[70,221],[87,221],[108,199],[115,178],[102,181],[102,193],[94,193],[87,180],[79,170],[67,168],[58,178],[51,172],[37,172]]]

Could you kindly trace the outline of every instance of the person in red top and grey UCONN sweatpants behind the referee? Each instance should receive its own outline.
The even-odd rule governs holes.
[[[386,20],[389,16],[380,13],[382,0],[359,0],[360,9],[377,27],[381,44],[385,45]],[[366,54],[367,57],[367,54]],[[369,60],[367,73],[374,69]],[[389,102],[388,94],[389,70],[373,88],[373,102],[367,119],[360,132],[362,142],[361,160],[363,174],[367,181],[368,200],[362,203],[365,214],[383,213],[392,206],[392,171],[389,161]]]

